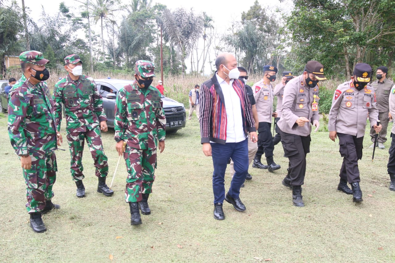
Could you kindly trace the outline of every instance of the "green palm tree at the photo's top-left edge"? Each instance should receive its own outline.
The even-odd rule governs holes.
[[[0,6],[0,72],[3,78],[6,77],[5,56],[19,53],[23,49],[17,37],[24,28],[21,13],[14,1],[9,7]]]

